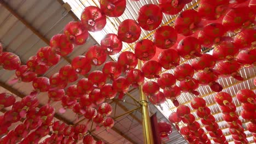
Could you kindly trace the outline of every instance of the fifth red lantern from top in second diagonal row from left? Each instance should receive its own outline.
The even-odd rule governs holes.
[[[107,59],[107,53],[97,45],[91,46],[85,56],[92,65],[101,65]]]

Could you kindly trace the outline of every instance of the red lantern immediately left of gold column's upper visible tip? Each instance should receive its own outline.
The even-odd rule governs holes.
[[[123,71],[136,68],[138,59],[134,53],[130,51],[122,52],[118,57],[118,64]]]

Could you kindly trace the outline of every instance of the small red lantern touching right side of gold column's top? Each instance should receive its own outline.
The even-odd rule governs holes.
[[[159,92],[159,85],[154,81],[147,81],[142,86],[142,91],[146,95],[154,95]]]

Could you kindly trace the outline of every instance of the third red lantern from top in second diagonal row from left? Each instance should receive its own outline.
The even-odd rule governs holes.
[[[141,27],[135,20],[124,20],[118,27],[118,38],[125,43],[133,43],[141,35]]]

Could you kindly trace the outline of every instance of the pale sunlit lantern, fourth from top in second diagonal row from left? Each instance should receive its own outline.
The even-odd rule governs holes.
[[[101,48],[104,49],[108,55],[115,55],[119,53],[122,50],[122,47],[123,43],[120,39],[118,39],[118,35],[116,34],[106,34],[101,40]]]

